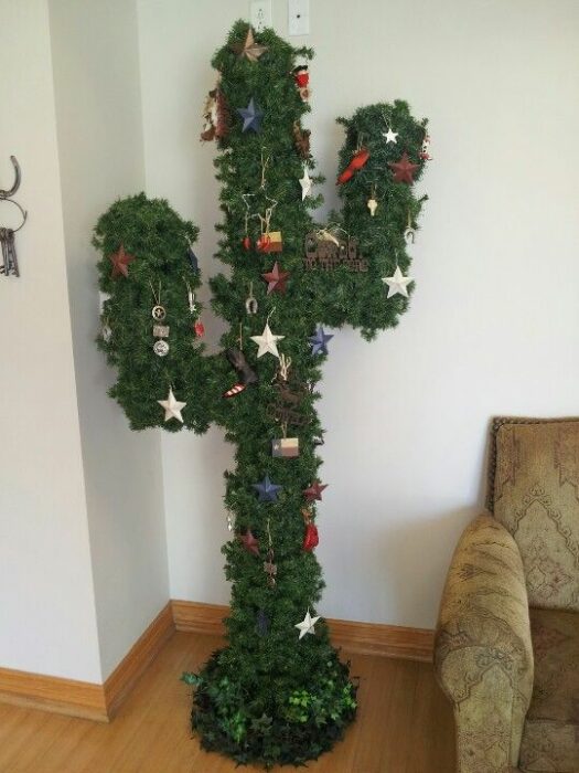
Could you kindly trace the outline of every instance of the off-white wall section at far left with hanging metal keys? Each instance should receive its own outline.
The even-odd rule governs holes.
[[[0,276],[0,666],[99,681],[46,2],[1,0],[0,29],[0,188],[13,153],[29,211]]]

